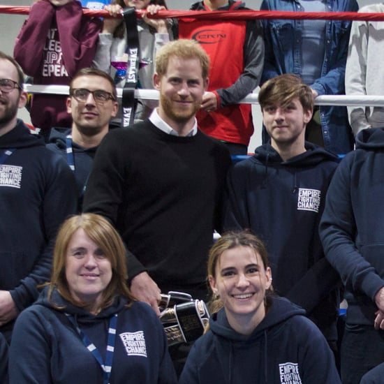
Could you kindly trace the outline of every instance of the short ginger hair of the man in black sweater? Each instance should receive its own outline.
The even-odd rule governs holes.
[[[202,78],[207,79],[209,75],[209,57],[197,41],[180,38],[163,45],[156,54],[156,73],[158,77],[161,78],[167,73],[168,62],[172,56],[181,59],[199,59]]]

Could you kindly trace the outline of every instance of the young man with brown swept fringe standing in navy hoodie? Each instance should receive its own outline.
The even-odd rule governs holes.
[[[335,351],[339,279],[318,223],[338,158],[304,139],[313,96],[300,77],[268,80],[259,103],[271,140],[232,168],[224,227],[249,228],[265,242],[276,293],[303,307]]]

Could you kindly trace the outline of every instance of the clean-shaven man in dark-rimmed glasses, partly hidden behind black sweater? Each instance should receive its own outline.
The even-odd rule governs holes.
[[[66,100],[72,128],[53,128],[49,149],[61,154],[73,170],[77,183],[78,210],[81,212],[85,185],[96,149],[108,133],[109,122],[118,110],[112,77],[96,68],[77,71]]]

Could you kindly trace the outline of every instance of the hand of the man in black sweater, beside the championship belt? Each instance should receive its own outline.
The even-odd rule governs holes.
[[[140,302],[149,304],[157,316],[160,316],[158,302],[161,300],[161,290],[157,284],[149,277],[147,272],[136,275],[131,281],[131,293]]]

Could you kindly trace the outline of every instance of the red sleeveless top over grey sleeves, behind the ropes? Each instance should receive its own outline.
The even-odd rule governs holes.
[[[232,3],[228,10],[237,6],[238,3]],[[200,110],[197,114],[199,128],[219,140],[248,145],[253,133],[251,105],[223,106],[217,92],[230,88],[244,72],[246,22],[182,19],[179,20],[179,38],[197,40],[211,61],[208,91],[216,94],[218,109],[209,113]]]

